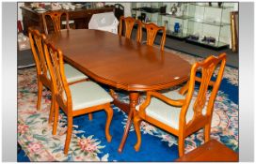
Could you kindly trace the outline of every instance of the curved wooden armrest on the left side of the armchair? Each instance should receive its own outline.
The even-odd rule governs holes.
[[[169,105],[173,105],[173,106],[177,106],[177,107],[184,105],[184,99],[174,100],[174,99],[166,97],[163,94],[160,94],[158,92],[149,91],[149,92],[147,92],[147,97],[146,97],[145,102],[142,103],[139,107],[138,113],[142,118],[146,117],[145,111],[146,111],[146,108],[150,105],[152,97],[157,97],[157,98],[161,99],[162,101],[168,103]]]

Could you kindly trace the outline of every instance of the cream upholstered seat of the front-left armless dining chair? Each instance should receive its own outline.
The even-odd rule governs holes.
[[[74,83],[70,89],[73,111],[113,101],[113,98],[95,82]]]

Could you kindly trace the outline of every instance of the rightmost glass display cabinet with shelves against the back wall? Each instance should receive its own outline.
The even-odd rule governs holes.
[[[189,3],[188,15],[192,18],[187,23],[186,41],[216,49],[228,47],[232,10],[232,3]]]

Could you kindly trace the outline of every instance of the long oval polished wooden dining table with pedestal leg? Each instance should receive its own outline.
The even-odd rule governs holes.
[[[85,73],[91,80],[113,90],[123,90],[129,103],[111,92],[114,104],[128,114],[118,151],[121,152],[133,123],[141,94],[164,90],[189,79],[191,65],[174,52],[136,42],[110,32],[75,29],[47,36],[63,52],[65,62]]]

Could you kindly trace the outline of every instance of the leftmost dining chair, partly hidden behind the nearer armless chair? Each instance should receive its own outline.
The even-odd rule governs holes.
[[[28,28],[28,36],[30,41],[30,46],[32,50],[32,54],[36,63],[37,68],[37,79],[38,79],[38,101],[37,101],[37,110],[40,110],[40,103],[42,97],[42,86],[44,85],[46,88],[52,91],[52,79],[50,77],[49,69],[46,65],[45,53],[43,51],[42,41],[46,38],[45,35],[40,34],[40,32],[32,27]],[[65,64],[65,73],[67,76],[67,81],[72,84],[75,82],[83,82],[87,81],[88,77],[77,70],[76,68]],[[53,97],[52,97],[53,102]],[[54,106],[51,103],[51,110],[49,115],[49,123],[52,122],[53,119]],[[90,117],[91,119],[91,117]]]

